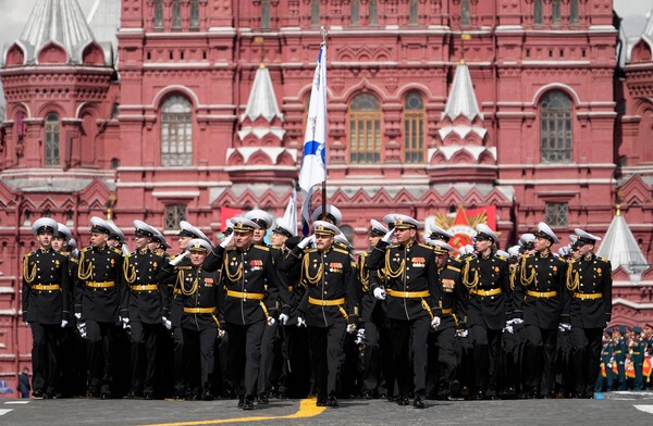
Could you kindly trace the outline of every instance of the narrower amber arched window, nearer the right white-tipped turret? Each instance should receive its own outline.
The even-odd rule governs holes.
[[[404,99],[404,162],[424,161],[424,101],[412,91]]]

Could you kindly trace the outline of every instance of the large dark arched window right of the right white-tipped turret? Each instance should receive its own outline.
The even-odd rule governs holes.
[[[540,147],[542,163],[571,162],[571,99],[552,91],[540,102]]]

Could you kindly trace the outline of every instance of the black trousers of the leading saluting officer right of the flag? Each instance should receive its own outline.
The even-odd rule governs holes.
[[[390,320],[392,359],[401,398],[407,398],[411,390],[415,394],[426,392],[430,323],[428,316],[409,321]]]

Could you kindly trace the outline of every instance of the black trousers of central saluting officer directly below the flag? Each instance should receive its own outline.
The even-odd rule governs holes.
[[[329,327],[308,327],[318,400],[335,397],[337,377],[345,358],[346,329],[344,321]]]

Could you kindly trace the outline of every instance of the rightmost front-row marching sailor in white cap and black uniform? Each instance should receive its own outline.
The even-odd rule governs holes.
[[[575,229],[577,259],[567,270],[569,314],[574,335],[576,398],[592,398],[599,374],[603,328],[612,317],[612,266],[607,259],[594,254],[594,245],[601,238]]]

